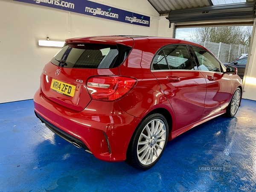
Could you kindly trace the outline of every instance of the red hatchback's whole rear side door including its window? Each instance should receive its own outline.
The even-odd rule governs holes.
[[[169,45],[158,51],[151,71],[175,112],[176,131],[201,119],[206,96],[206,80],[194,70],[186,45]]]

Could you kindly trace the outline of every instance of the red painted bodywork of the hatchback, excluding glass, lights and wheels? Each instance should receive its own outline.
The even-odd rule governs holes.
[[[191,42],[110,36],[73,38],[66,43],[132,47],[125,61],[112,69],[64,68],[49,62],[43,69],[41,86],[34,96],[37,114],[81,140],[100,160],[124,161],[135,129],[153,111],[168,113],[169,140],[172,140],[190,128],[225,113],[234,91],[241,87],[241,79],[237,75],[199,70],[151,70],[154,55],[165,45],[189,44],[203,48]],[[58,69],[60,74],[55,76]],[[137,79],[137,83],[117,101],[96,101],[91,99],[86,81],[97,75],[127,76]],[[68,97],[53,91],[50,88],[52,79],[76,86],[75,95]]]

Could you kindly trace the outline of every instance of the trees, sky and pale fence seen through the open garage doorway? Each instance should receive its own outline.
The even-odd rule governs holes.
[[[252,24],[251,24],[252,25]],[[253,26],[176,26],[175,38],[207,48],[222,63],[231,63],[249,52]]]

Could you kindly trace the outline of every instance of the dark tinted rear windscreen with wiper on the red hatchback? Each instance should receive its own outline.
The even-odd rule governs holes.
[[[122,64],[130,51],[131,47],[119,44],[69,44],[64,46],[51,62],[68,68],[109,69]]]

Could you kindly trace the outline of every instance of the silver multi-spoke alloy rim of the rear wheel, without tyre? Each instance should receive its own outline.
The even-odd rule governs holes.
[[[141,164],[150,165],[160,157],[166,135],[166,126],[161,119],[153,119],[144,127],[137,145],[137,156]]]

